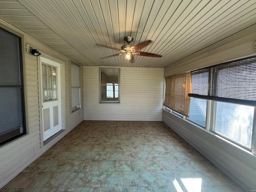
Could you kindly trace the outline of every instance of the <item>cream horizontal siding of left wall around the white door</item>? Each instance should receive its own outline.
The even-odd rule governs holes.
[[[35,40],[34,38],[24,34],[20,30],[10,26],[6,22],[0,20],[0,26],[23,36],[23,57],[24,57],[24,89],[26,102],[26,126],[27,132],[25,136],[14,140],[0,147],[0,188],[9,182],[14,176],[19,174],[24,168],[32,163],[36,158],[43,154],[54,143],[60,140],[76,125],[82,122],[82,114],[78,111],[70,113],[70,97],[69,97],[69,58]],[[38,93],[38,64],[36,56],[26,53],[26,43],[37,48],[42,55],[47,55],[52,59],[64,62],[63,70],[65,70],[65,112],[66,112],[66,130],[59,136],[54,138],[44,147],[40,147],[40,116],[39,116],[39,93]],[[81,67],[82,72],[82,67]],[[82,83],[82,78],[81,78]]]

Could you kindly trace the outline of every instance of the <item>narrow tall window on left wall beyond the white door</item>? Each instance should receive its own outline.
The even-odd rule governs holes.
[[[70,97],[71,112],[81,108],[80,96],[80,66],[70,63]]]

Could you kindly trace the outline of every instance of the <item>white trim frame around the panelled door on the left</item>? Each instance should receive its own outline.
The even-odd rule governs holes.
[[[62,130],[66,130],[66,115],[65,115],[65,63],[57,60],[55,58],[52,58],[50,56],[47,56],[45,54],[42,54],[37,57],[38,59],[38,92],[39,92],[39,116],[40,116],[40,146],[44,146],[44,129],[42,127],[43,122],[43,112],[42,112],[42,106],[43,106],[43,98],[42,98],[42,76],[41,76],[41,60],[40,57],[52,60],[54,62],[60,63],[60,88],[61,88],[61,116],[62,116]]]

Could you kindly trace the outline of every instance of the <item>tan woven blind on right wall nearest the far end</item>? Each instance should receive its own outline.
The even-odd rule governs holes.
[[[191,92],[190,73],[165,78],[166,91],[164,106],[188,117]]]

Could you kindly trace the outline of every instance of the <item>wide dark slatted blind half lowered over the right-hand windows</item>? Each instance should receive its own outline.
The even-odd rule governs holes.
[[[191,72],[190,97],[256,106],[256,57]]]

